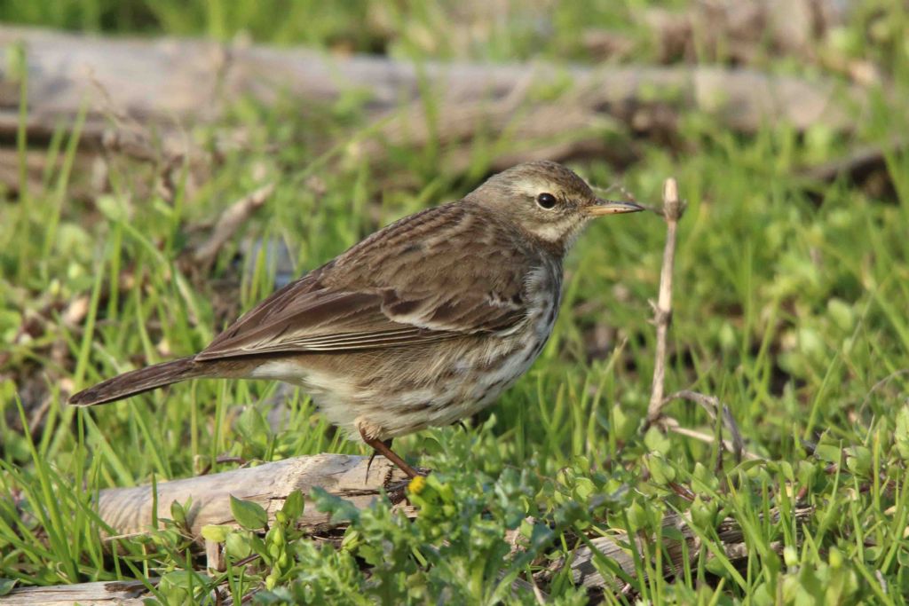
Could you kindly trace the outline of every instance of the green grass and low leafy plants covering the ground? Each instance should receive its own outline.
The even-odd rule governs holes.
[[[270,16],[240,2],[98,1],[61,12],[55,3],[13,2],[0,17],[228,38],[248,24],[255,39],[275,44],[584,60],[573,32],[627,23],[640,3],[581,3],[586,13],[560,7],[545,35],[512,15],[500,25],[513,34],[508,40],[494,39],[503,34],[494,30],[462,46],[444,35],[445,13],[428,5],[413,18],[384,7],[383,18],[394,25],[389,33],[351,27],[364,5],[318,4],[321,18],[305,28],[296,17],[315,9],[289,4],[291,18],[276,30],[268,27]],[[836,39],[851,56],[883,65],[894,98],[905,98],[909,49],[899,41],[906,39],[906,17],[897,3],[874,5],[876,12],[863,9]],[[867,42],[872,22],[877,38]],[[427,47],[420,41],[433,36],[420,31],[441,42]],[[634,35],[641,60],[650,58],[644,33]],[[803,71],[783,59],[767,67]],[[321,134],[335,137],[362,120],[352,103],[320,114]],[[876,104],[850,139],[821,127],[799,134],[785,124],[744,136],[688,115],[679,147],[635,142],[643,157],[622,174],[596,161],[577,166],[595,184],[620,182],[654,204],[664,178],[678,179],[688,209],[676,257],[668,389],[711,393],[728,404],[760,462],[736,464],[727,456],[714,472],[715,444],[639,431],[654,365],[647,301],[655,298],[664,224],[652,214],[606,219],[591,226],[568,260],[563,310],[532,370],[479,418],[399,441],[412,461],[436,470],[415,497],[416,522],[382,504],[355,514],[323,495],[321,506],[354,518],[340,551],[298,537],[290,522],[264,537],[251,522],[223,537],[230,566],[214,580],[197,572],[204,559],[180,532],[179,508],[167,530],[117,541],[118,551],[109,551],[93,495],[190,476],[206,465],[229,469],[233,463],[215,461],[224,454],[269,461],[365,450],[313,414],[303,393],[286,402],[287,421],[270,428],[263,417],[275,385],[268,383],[196,381],[89,411],[65,406],[64,393],[203,347],[227,319],[218,316],[215,279],[235,279],[227,292],[243,309],[269,293],[274,263],[261,254],[237,263],[244,240],[285,243],[294,272],[304,273],[382,224],[465,194],[477,180],[439,177],[425,157],[405,150],[395,155],[394,169],[416,184],[389,189],[383,174],[355,158],[314,164],[319,152],[310,123],[291,104],[245,104],[228,121],[249,129],[252,143],[228,154],[198,190],[180,183],[174,200],[165,200],[126,164],[111,174],[109,193],[86,203],[72,195],[74,181],[85,178],[73,168],[77,128],[61,128],[46,153],[63,163],[52,163],[58,168],[40,189],[0,200],[0,340],[8,354],[0,367],[0,579],[46,585],[165,575],[158,599],[172,602],[200,599],[207,584],[220,581],[236,598],[265,585],[271,592],[260,591],[259,601],[422,603],[448,591],[468,603],[531,602],[529,592],[510,593],[510,580],[570,556],[598,534],[662,532],[665,514],[686,512],[700,553],[664,580],[654,562],[668,554],[654,549],[658,543],[646,543],[641,553],[629,545],[638,572],[627,579],[634,598],[904,603],[909,154],[886,157],[892,192],[799,176],[800,167],[839,157],[854,144],[886,144],[905,132],[904,109]],[[205,141],[214,134],[200,129],[194,136]],[[495,143],[505,150],[519,144]],[[19,144],[24,154],[28,142]],[[344,140],[336,144],[345,148]],[[444,150],[436,153],[444,162]],[[220,255],[209,285],[192,283],[177,263],[193,237],[187,226],[217,216],[265,180],[275,181],[275,194]],[[67,305],[80,297],[86,313],[68,322]],[[29,427],[35,392],[49,404],[40,426]],[[676,402],[668,412],[684,426],[714,432],[690,404]],[[694,502],[677,493],[678,485],[696,495]],[[796,504],[813,508],[806,520],[794,516]],[[522,522],[528,515],[542,522]],[[722,550],[715,528],[726,516],[743,529],[743,562]],[[526,557],[503,551],[504,530],[514,527],[529,541]],[[236,564],[260,551],[255,566]],[[603,571],[610,565],[597,561]],[[544,591],[560,603],[634,600],[609,591],[588,596],[564,571],[546,582]]]

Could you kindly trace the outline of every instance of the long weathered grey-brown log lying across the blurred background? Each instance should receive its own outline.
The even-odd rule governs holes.
[[[414,65],[299,48],[105,39],[0,26],[0,137],[6,139],[18,126],[19,84],[9,68],[15,45],[25,47],[30,134],[49,136],[60,120],[72,119],[85,103],[88,143],[103,139],[112,116],[173,130],[178,124],[215,120],[238,99],[252,97],[268,104],[283,93],[305,104],[332,102],[361,90],[369,95],[367,109],[385,115],[421,100],[421,90],[429,90],[438,103],[440,124],[431,128],[424,105],[414,104],[383,132],[399,140],[412,137],[412,143],[420,145],[430,130],[443,141],[459,141],[481,127],[498,134],[508,126],[522,136],[548,141],[555,152],[564,145],[566,133],[582,145],[602,139],[604,118],[647,132],[673,127],[676,114],[697,110],[736,131],[779,123],[799,130],[824,124],[834,131],[852,131],[856,120],[850,106],[864,104],[862,93],[846,85],[749,69]],[[533,84],[553,83],[565,94],[550,102],[534,97]],[[516,111],[525,102],[533,111]]]

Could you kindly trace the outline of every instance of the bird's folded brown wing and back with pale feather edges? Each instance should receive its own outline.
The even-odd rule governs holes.
[[[502,237],[489,233],[501,228],[461,225],[456,213],[426,214],[385,228],[272,294],[196,359],[394,347],[522,322],[528,264],[491,237]],[[473,225],[467,233],[483,237],[461,245],[458,225]]]

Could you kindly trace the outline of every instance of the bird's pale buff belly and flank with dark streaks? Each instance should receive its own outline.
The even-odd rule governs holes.
[[[443,341],[423,351],[362,353],[343,367],[322,355],[259,366],[250,378],[303,387],[329,422],[351,438],[392,438],[449,425],[493,403],[542,352],[558,301],[534,306],[520,330],[502,336]]]

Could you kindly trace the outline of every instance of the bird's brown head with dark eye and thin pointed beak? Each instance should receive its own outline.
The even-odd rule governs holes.
[[[566,252],[594,217],[636,213],[631,202],[596,197],[584,179],[554,162],[518,164],[490,177],[466,198],[505,216],[524,232]]]

